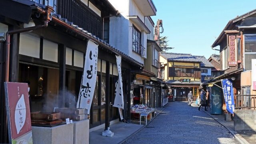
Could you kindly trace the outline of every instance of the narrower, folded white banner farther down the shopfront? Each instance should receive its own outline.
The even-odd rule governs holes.
[[[118,81],[116,82],[116,97],[114,101],[114,107],[124,109],[124,94],[123,94],[123,83],[121,73],[121,56],[116,56],[116,65],[118,70]]]

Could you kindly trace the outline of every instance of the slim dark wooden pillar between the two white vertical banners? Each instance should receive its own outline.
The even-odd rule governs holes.
[[[110,74],[109,74],[109,69],[110,69],[110,63],[109,61],[106,61],[106,102],[105,102],[105,130],[108,130],[108,124],[109,124],[109,119],[110,119],[110,100],[109,100],[109,95],[110,95]]]

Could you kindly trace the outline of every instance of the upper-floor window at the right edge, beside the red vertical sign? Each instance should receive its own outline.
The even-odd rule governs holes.
[[[252,59],[256,58],[256,35],[244,35],[244,69],[252,70]]]

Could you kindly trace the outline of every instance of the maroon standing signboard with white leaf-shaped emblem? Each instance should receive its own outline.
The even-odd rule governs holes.
[[[9,141],[32,144],[28,84],[4,82]]]

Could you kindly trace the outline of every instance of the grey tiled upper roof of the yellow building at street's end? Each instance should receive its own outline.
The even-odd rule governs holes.
[[[214,67],[204,56],[193,56],[191,54],[172,52],[162,52],[161,54],[167,58],[168,61],[201,62],[201,67]]]

